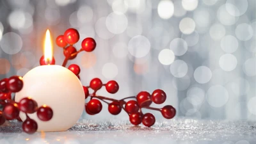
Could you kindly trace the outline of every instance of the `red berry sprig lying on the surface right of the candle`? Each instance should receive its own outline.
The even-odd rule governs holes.
[[[119,89],[118,83],[116,83],[116,81],[108,81],[108,83],[102,84],[102,81],[99,78],[92,79],[92,81],[90,81],[90,86],[83,86],[85,99],[90,97],[90,101],[85,104],[86,113],[89,115],[100,113],[102,109],[100,100],[108,104],[108,111],[112,115],[118,115],[122,109],[124,109],[124,111],[129,115],[129,120],[133,125],[139,125],[142,122],[143,125],[150,127],[156,122],[155,116],[152,115],[152,113],[143,114],[141,111],[142,108],[160,111],[164,118],[167,119],[173,118],[176,114],[175,108],[170,105],[164,106],[163,108],[150,107],[152,102],[155,104],[163,104],[163,102],[166,100],[166,93],[163,90],[154,90],[152,94],[143,91],[138,93],[136,96],[125,97],[124,99],[116,100],[96,95],[96,92],[100,90],[102,86],[105,86],[107,92],[111,94],[118,92]],[[92,88],[92,94],[89,94],[88,88]],[[125,101],[126,99],[134,100]],[[106,100],[110,102],[107,102]]]

